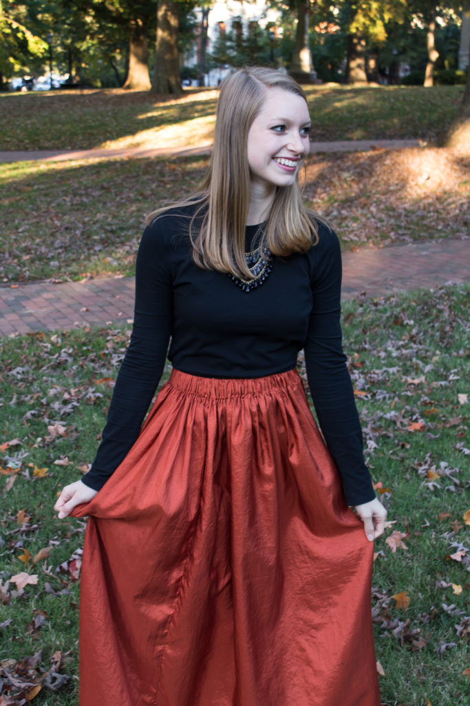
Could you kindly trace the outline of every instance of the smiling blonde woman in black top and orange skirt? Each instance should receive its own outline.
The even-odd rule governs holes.
[[[341,348],[338,239],[297,189],[309,130],[294,80],[233,73],[202,191],[144,231],[103,441],[56,503],[90,515],[82,706],[380,704],[369,596],[386,513]]]

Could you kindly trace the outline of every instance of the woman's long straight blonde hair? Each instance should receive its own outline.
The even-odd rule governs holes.
[[[199,204],[190,222],[194,262],[245,280],[253,278],[245,259],[251,184],[247,140],[268,88],[286,90],[307,102],[299,84],[273,68],[248,66],[225,78],[217,104],[211,162],[201,189],[147,218],[151,222],[168,208]],[[291,186],[278,186],[261,235],[261,252],[266,246],[278,256],[307,252],[318,240],[315,218],[318,217],[302,203],[297,179]],[[202,219],[197,228],[196,219]]]

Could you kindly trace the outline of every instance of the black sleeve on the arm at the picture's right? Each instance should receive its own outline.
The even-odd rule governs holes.
[[[313,309],[304,347],[307,378],[328,450],[342,477],[348,505],[375,498],[364,462],[359,415],[354,402],[340,326],[341,251],[335,232],[320,227],[311,249]]]

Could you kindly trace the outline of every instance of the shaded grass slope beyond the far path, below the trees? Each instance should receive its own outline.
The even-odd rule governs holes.
[[[435,139],[452,121],[462,86],[307,87],[314,140]],[[145,131],[182,124],[178,144],[194,141],[214,114],[216,90],[190,90],[170,100],[120,89],[0,95],[0,150],[111,146]],[[194,125],[194,128],[192,128]],[[146,133],[151,136],[151,133]]]

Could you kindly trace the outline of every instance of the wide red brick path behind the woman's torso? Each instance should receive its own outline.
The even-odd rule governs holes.
[[[470,239],[361,248],[343,255],[344,299],[470,280]],[[134,277],[0,287],[0,335],[132,321]]]

